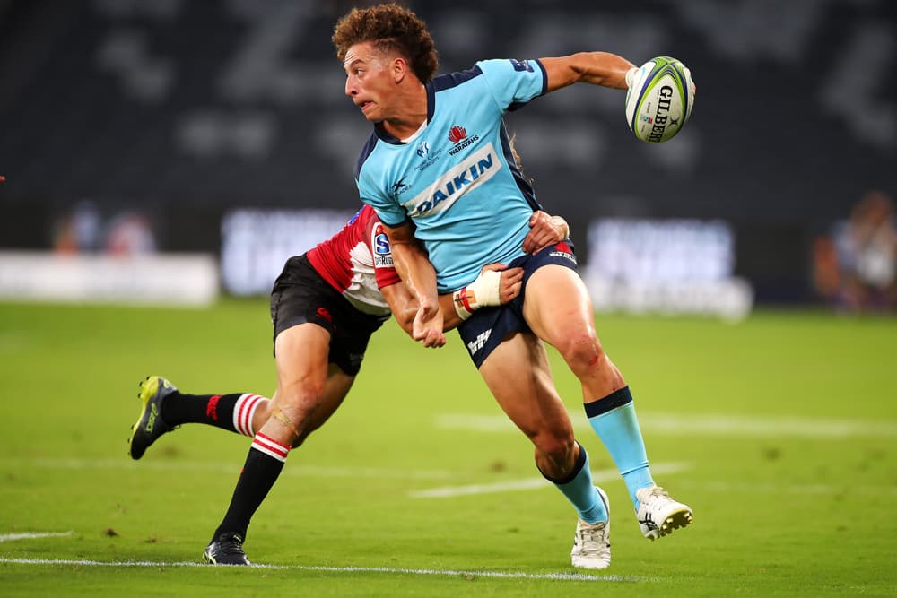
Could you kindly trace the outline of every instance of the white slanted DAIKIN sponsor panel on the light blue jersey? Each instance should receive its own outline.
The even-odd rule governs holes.
[[[459,166],[433,181],[422,193],[403,203],[412,218],[448,210],[462,195],[482,185],[499,171],[498,154],[492,143],[474,152]]]

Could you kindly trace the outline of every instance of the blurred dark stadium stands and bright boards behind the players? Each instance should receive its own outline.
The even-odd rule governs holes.
[[[0,0],[0,297],[265,295],[359,205],[370,126],[329,40],[353,4]],[[599,308],[818,302],[820,236],[897,193],[889,0],[408,4],[441,72],[584,49],[691,67],[670,143],[637,142],[623,94],[588,86],[508,118]]]

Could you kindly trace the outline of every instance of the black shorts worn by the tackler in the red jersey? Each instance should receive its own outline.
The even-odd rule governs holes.
[[[300,324],[317,324],[330,333],[329,363],[355,376],[368,347],[370,335],[383,325],[387,316],[371,316],[354,308],[315,271],[303,254],[283,265],[283,272],[271,290],[271,323],[277,335]]]

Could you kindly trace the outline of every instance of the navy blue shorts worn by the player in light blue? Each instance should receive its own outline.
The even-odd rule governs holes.
[[[457,327],[458,334],[467,348],[477,369],[495,350],[501,341],[516,332],[532,332],[523,319],[523,300],[527,295],[527,282],[536,270],[547,264],[558,264],[577,271],[573,244],[567,240],[545,247],[535,256],[520,256],[509,267],[523,268],[523,288],[520,294],[505,305],[477,309],[472,316]]]

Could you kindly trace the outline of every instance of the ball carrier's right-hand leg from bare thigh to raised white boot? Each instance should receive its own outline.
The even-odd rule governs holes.
[[[651,477],[629,386],[598,341],[592,303],[579,275],[546,265],[530,277],[526,292],[527,324],[560,351],[579,378],[589,423],[623,475],[641,532],[654,540],[690,524],[692,509],[669,498]]]

